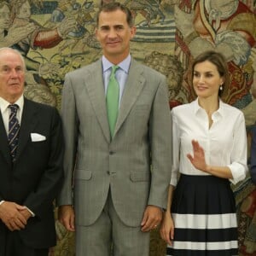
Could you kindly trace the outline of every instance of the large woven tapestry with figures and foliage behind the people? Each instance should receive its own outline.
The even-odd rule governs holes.
[[[60,109],[65,74],[96,61],[96,12],[112,0],[0,1],[0,47],[20,50],[26,60],[26,97]],[[231,83],[224,102],[256,121],[255,0],[125,0],[137,26],[131,55],[166,75],[170,108],[191,102],[191,62],[207,49],[227,58]],[[256,255],[256,189],[249,175],[233,187],[241,256]],[[73,256],[74,234],[56,220],[57,246],[51,255]],[[151,233],[150,256],[165,255],[158,230]]]

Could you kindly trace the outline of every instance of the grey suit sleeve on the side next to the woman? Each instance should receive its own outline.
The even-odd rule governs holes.
[[[172,122],[166,79],[160,75],[149,121],[151,185],[148,205],[166,208],[172,166]]]

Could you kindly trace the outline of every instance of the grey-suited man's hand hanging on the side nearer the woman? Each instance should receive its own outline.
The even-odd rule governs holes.
[[[143,221],[141,223],[142,231],[148,232],[157,228],[162,219],[162,210],[160,207],[148,206],[143,215]]]

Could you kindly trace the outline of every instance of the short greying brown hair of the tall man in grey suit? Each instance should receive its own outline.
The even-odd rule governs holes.
[[[103,4],[101,6],[101,8],[99,9],[99,11],[96,15],[96,26],[99,25],[99,17],[100,17],[100,14],[102,12],[110,13],[110,12],[116,11],[118,9],[121,10],[123,13],[125,13],[126,21],[127,21],[128,25],[130,27],[133,26],[134,25],[134,20],[133,20],[133,17],[131,15],[131,10],[128,9],[124,4],[118,3],[118,2],[106,3],[106,4]]]

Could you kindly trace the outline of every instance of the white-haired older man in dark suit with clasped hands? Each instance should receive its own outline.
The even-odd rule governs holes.
[[[47,256],[55,245],[53,201],[63,140],[55,108],[23,96],[25,62],[0,49],[0,255]]]

